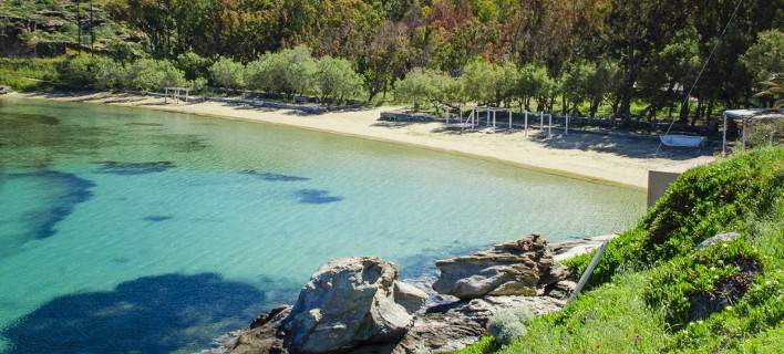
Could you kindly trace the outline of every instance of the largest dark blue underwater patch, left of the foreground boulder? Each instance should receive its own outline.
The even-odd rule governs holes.
[[[171,353],[247,326],[264,292],[216,273],[138,278],[113,291],[56,298],[0,331],[9,354]]]

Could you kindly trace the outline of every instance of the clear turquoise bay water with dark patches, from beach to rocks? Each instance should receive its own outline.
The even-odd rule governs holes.
[[[291,116],[291,119],[297,119]],[[0,352],[198,350],[327,260],[404,277],[539,231],[619,231],[639,190],[266,124],[0,100]]]

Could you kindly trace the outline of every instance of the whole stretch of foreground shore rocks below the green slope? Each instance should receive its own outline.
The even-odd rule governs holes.
[[[216,340],[209,354],[447,353],[486,335],[499,310],[558,311],[578,274],[560,262],[615,236],[548,243],[538,235],[436,261],[439,277],[400,280],[376,257],[322,266],[293,305],[260,314]]]

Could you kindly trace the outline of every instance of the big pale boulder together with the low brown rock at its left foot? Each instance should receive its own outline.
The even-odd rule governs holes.
[[[391,262],[338,259],[311,277],[293,306],[259,316],[224,346],[235,354],[330,353],[395,343],[414,322],[410,312],[425,300],[421,290],[398,282],[398,267]]]

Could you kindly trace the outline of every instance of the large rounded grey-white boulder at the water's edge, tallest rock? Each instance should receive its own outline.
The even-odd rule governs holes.
[[[396,279],[398,267],[375,257],[321,267],[283,321],[286,346],[296,353],[327,353],[399,340],[413,317],[394,302]]]

